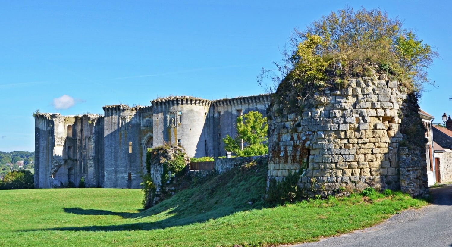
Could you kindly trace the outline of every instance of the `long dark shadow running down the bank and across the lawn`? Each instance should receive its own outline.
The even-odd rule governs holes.
[[[267,169],[267,163],[233,169],[208,178],[197,186],[179,191],[150,209],[137,213],[81,208],[63,209],[68,214],[118,216],[125,219],[126,224],[68,226],[25,231],[153,230],[206,222],[245,210],[262,209],[269,206],[263,200]],[[93,218],[94,224],[95,220]],[[144,222],[146,220],[147,222]]]

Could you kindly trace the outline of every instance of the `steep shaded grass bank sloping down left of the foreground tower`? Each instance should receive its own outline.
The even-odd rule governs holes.
[[[209,176],[196,182],[192,188],[180,191],[149,210],[137,214],[137,217],[148,217],[160,212],[177,215],[155,226],[167,227],[262,208],[267,169],[267,161],[262,158],[218,176]]]

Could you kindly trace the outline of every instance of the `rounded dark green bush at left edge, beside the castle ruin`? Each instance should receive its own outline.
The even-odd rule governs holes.
[[[0,182],[0,190],[33,189],[33,173],[28,170],[13,170],[5,174]]]

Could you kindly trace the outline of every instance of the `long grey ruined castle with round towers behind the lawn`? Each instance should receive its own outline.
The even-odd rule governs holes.
[[[104,106],[104,116],[35,117],[35,187],[52,188],[85,179],[87,187],[140,188],[147,148],[182,146],[188,156],[225,155],[222,138],[250,111],[266,115],[270,95],[207,100],[168,97],[151,106]]]

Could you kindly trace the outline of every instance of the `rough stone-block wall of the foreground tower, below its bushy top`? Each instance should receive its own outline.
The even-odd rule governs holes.
[[[268,115],[268,186],[272,179],[282,181],[303,169],[299,185],[309,195],[367,186],[423,195],[425,151],[424,161],[422,150],[415,149],[402,155],[407,161],[403,168],[399,163],[406,98],[396,81],[377,76],[319,92],[307,103],[299,102],[303,109],[285,107],[275,97]]]

